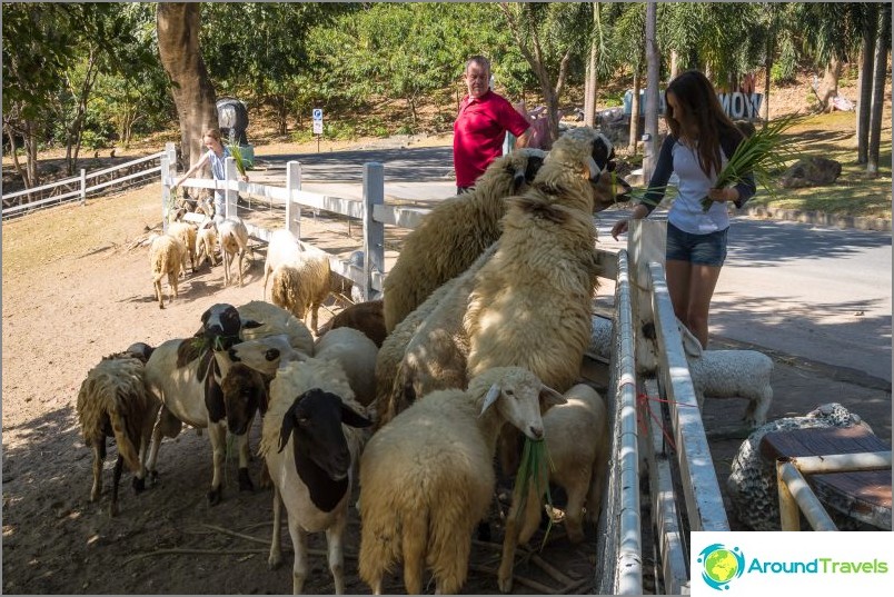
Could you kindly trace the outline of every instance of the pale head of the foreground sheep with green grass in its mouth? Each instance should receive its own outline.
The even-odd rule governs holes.
[[[481,397],[481,415],[496,405],[500,416],[533,440],[543,439],[543,414],[565,397],[545,386],[522,367],[494,367],[469,381],[469,391]]]

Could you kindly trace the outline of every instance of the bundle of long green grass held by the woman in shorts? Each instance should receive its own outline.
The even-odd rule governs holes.
[[[786,162],[795,157],[792,139],[783,137],[783,133],[795,123],[797,117],[798,115],[794,113],[767,122],[764,128],[746,137],[721,170],[714,188],[734,187],[751,173],[755,183],[764,187],[771,197],[775,198],[776,186],[773,183],[773,177],[784,170]],[[709,197],[705,196],[702,199],[703,211],[707,211],[713,205],[714,201]]]

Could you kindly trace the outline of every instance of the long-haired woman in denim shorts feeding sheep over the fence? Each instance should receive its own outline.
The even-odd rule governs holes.
[[[744,136],[723,111],[717,92],[702,72],[688,70],[670,81],[665,102],[670,135],[662,145],[648,191],[630,218],[648,216],[676,172],[679,192],[667,213],[667,290],[677,318],[707,347],[708,308],[726,259],[726,202],[741,208],[756,189],[751,175],[734,187],[714,188]],[[714,201],[707,211],[702,207],[706,196]],[[615,223],[612,236],[617,239],[628,223],[629,219]]]

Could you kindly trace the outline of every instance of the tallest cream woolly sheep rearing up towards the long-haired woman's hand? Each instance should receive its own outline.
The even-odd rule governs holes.
[[[613,157],[600,133],[569,130],[532,188],[507,200],[499,247],[476,273],[463,320],[469,377],[515,365],[559,391],[579,378],[598,288],[595,183]]]

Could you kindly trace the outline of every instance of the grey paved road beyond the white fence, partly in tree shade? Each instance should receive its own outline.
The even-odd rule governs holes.
[[[301,162],[308,190],[359,197],[362,165],[385,165],[386,200],[435,201],[454,193],[451,148],[359,148],[260,156],[271,171]],[[318,192],[324,192],[318,190]],[[599,246],[626,210],[597,218]],[[735,218],[712,304],[711,332],[852,369],[891,385],[891,232]]]

